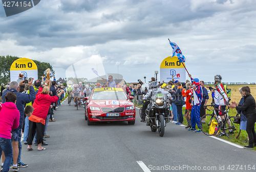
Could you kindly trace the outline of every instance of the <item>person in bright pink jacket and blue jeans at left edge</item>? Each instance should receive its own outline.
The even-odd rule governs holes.
[[[19,126],[19,111],[15,105],[17,96],[14,92],[5,95],[6,103],[0,105],[0,157],[5,154],[3,172],[9,171],[12,163],[11,130]]]

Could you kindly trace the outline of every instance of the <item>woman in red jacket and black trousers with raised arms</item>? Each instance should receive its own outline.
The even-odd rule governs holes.
[[[29,134],[28,134],[28,150],[32,151],[32,141],[36,133],[36,141],[38,142],[38,151],[46,150],[42,148],[42,142],[44,138],[44,130],[46,117],[51,103],[57,102],[60,96],[65,91],[62,90],[57,96],[50,96],[50,89],[46,85],[49,83],[49,80],[46,80],[44,87],[40,87],[33,103],[34,111],[29,117]]]

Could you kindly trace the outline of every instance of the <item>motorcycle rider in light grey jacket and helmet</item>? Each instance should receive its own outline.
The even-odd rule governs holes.
[[[164,95],[164,99],[165,101],[167,101],[167,99],[172,100],[172,95],[168,92],[168,91],[164,91],[164,89],[159,88],[159,83],[156,81],[153,81],[150,83],[150,90],[147,91],[146,95],[143,97],[143,100],[147,100],[149,99],[152,95],[153,92],[161,92]],[[151,108],[152,106],[152,102],[148,101],[149,103],[149,108]],[[147,108],[147,106],[145,107],[145,109]],[[143,109],[143,107],[142,107]],[[149,126],[150,124],[146,124],[147,126]]]

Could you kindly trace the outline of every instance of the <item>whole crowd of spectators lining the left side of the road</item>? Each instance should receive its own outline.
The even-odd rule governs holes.
[[[5,85],[1,84],[0,104],[0,170],[18,171],[19,167],[27,167],[22,162],[22,133],[24,144],[28,144],[28,151],[32,151],[32,141],[38,145],[38,151],[46,150],[45,143],[48,122],[55,121],[53,111],[60,106],[60,100],[65,95],[62,84],[51,82],[50,88],[45,77],[42,80],[18,79]],[[33,113],[32,113],[33,112]]]

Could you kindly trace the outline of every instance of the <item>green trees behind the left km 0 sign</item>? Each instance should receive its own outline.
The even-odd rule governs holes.
[[[0,56],[0,83],[6,84],[7,82],[10,82],[10,68],[12,63],[17,59],[19,59],[19,57],[9,56],[9,55]],[[44,71],[48,68],[51,69],[53,74],[55,73],[50,63],[40,62],[38,60],[33,60],[33,61],[37,66],[38,79],[41,79],[41,76],[44,76]],[[18,79],[18,76],[17,76],[17,79]]]

